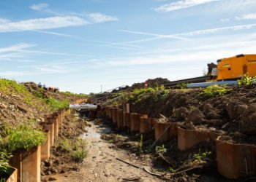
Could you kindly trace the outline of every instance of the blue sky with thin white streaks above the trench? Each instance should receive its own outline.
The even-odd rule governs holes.
[[[1,0],[0,76],[100,92],[256,53],[256,0]]]

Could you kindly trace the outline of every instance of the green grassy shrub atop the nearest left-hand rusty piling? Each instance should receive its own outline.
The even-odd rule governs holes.
[[[4,145],[9,151],[16,149],[32,149],[46,141],[46,134],[34,128],[32,122],[19,124],[18,127],[10,127],[4,124]]]

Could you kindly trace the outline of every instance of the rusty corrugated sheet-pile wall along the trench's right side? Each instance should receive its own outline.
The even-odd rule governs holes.
[[[146,114],[130,113],[129,104],[123,108],[106,106],[98,111],[97,116],[106,116],[119,130],[129,132],[154,132],[159,143],[178,140],[178,149],[187,150],[203,141],[215,141],[217,167],[225,178],[236,179],[256,175],[256,146],[222,141],[216,132],[206,130],[188,130],[178,127],[174,122],[160,122],[161,119],[148,118]]]

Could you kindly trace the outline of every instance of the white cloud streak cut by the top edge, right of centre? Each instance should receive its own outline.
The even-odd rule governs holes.
[[[157,12],[172,12],[177,9],[194,7],[200,4],[206,4],[213,1],[221,1],[221,0],[179,0],[176,2],[172,2],[170,4],[163,4],[160,7],[154,8],[154,10]]]

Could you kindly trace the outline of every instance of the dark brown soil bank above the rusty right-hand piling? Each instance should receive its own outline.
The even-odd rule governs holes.
[[[206,98],[203,89],[170,90],[144,95],[131,102],[131,111],[181,122],[182,127],[212,130],[225,140],[256,144],[256,87],[231,87],[227,95]],[[188,124],[189,123],[189,124]]]

